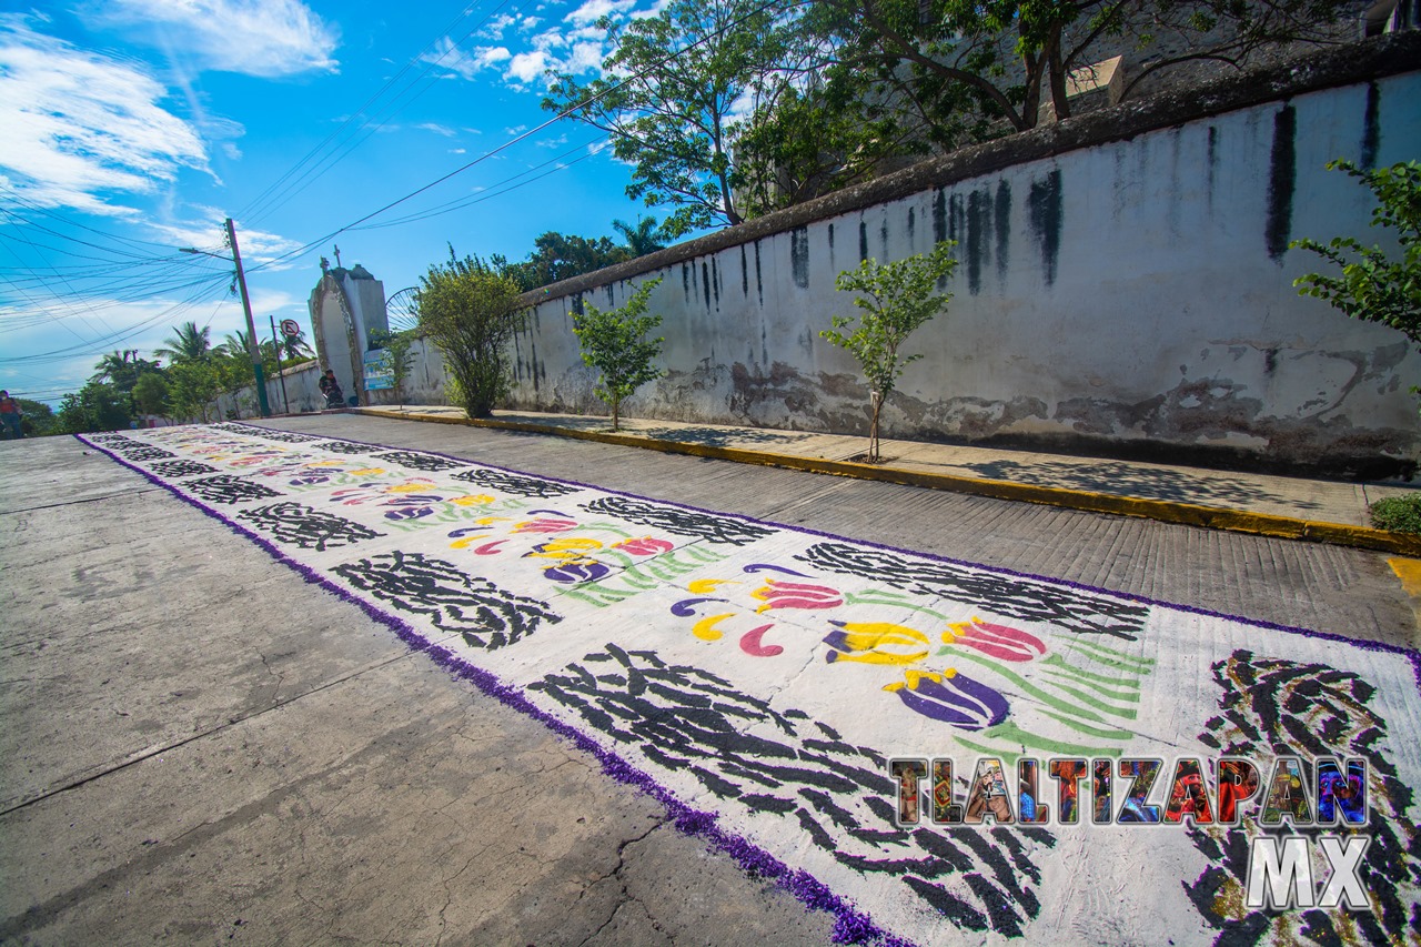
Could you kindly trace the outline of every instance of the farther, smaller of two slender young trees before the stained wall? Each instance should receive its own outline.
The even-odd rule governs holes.
[[[573,321],[583,361],[600,373],[595,391],[612,408],[612,431],[618,429],[622,400],[664,374],[652,360],[665,340],[647,338],[661,326],[661,316],[647,316],[647,300],[659,283],[661,277],[642,283],[620,309],[601,310],[587,303]]]

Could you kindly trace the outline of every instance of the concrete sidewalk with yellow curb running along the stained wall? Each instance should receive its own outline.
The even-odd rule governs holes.
[[[1113,461],[919,441],[882,441],[882,464],[855,461],[865,438],[571,414],[499,411],[470,419],[449,405],[361,408],[361,414],[551,434],[668,454],[762,464],[888,483],[1046,503],[1167,523],[1307,539],[1421,556],[1421,536],[1374,529],[1367,506],[1415,488],[1195,466]]]

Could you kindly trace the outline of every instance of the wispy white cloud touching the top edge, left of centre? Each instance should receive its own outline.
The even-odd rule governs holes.
[[[267,78],[335,73],[337,30],[300,0],[111,0],[101,23],[122,26],[202,60]]]

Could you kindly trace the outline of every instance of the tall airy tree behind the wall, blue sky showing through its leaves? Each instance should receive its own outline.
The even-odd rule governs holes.
[[[543,108],[611,135],[632,164],[630,198],[674,205],[666,237],[745,219],[732,144],[736,111],[776,85],[799,43],[789,0],[669,0],[625,26],[604,17],[604,78],[557,75]]]

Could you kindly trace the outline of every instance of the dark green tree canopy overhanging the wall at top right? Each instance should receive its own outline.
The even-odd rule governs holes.
[[[1071,114],[1069,78],[1103,40],[1133,37],[1155,55],[1131,78],[1187,61],[1241,67],[1258,50],[1327,41],[1346,0],[824,0],[814,28],[836,48],[838,80],[871,75],[880,100],[938,148],[1034,128],[1040,107]]]

